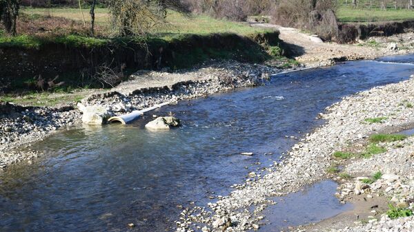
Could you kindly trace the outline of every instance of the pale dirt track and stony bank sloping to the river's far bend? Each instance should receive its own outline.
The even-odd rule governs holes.
[[[411,51],[410,49],[389,50],[387,49],[387,41],[384,41],[377,48],[366,45],[364,42],[352,45],[324,43],[317,36],[305,34],[295,28],[284,28],[270,23],[250,23],[250,25],[253,27],[279,30],[279,38],[290,48],[295,59],[300,63],[305,63],[309,67],[331,65],[335,61],[375,59],[380,56],[413,52],[413,48],[411,48]]]

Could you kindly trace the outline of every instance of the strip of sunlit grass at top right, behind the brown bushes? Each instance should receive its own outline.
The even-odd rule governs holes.
[[[375,21],[403,21],[413,20],[412,10],[386,11],[380,9],[353,9],[351,7],[341,7],[337,10],[337,18],[342,23],[366,23]]]

